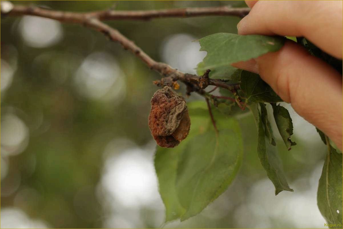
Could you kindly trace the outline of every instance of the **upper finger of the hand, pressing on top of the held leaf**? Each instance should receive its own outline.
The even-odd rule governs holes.
[[[257,1],[238,34],[304,36],[342,58],[342,1]]]

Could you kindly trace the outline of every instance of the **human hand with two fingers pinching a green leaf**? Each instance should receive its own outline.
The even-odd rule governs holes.
[[[342,1],[246,1],[238,34],[303,36],[342,59]],[[258,73],[273,90],[342,150],[342,75],[287,41],[277,52],[233,64]]]

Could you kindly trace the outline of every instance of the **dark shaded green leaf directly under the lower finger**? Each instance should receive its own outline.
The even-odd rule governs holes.
[[[273,89],[258,74],[242,71],[240,88],[245,93],[246,103],[250,102],[282,102]]]

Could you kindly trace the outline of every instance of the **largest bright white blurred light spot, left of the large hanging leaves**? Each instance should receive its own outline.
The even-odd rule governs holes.
[[[131,148],[106,160],[102,185],[121,205],[152,205],[159,198],[153,160],[147,156],[145,150]]]

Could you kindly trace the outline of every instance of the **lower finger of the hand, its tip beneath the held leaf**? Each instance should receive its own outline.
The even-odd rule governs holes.
[[[342,76],[336,70],[294,42],[234,67],[255,69],[300,116],[321,129],[342,150]]]

